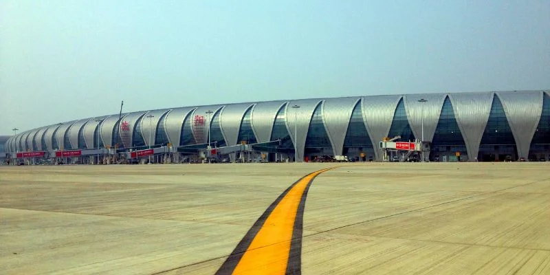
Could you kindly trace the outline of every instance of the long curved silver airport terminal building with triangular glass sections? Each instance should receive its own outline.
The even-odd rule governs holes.
[[[381,161],[380,142],[429,142],[430,161],[548,159],[550,91],[357,96],[178,107],[83,118],[17,133],[10,159]],[[210,144],[210,147],[208,147]],[[110,162],[112,163],[112,162]]]

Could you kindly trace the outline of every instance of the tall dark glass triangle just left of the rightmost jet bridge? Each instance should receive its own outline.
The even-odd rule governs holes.
[[[355,104],[351,112],[342,153],[355,161],[364,162],[375,159],[373,143],[363,121],[361,101]]]

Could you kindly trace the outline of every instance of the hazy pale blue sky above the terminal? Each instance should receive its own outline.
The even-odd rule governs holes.
[[[0,0],[0,135],[256,100],[550,89],[550,1]]]

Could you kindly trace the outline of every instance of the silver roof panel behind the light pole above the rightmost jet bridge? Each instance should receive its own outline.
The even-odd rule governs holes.
[[[417,139],[421,139],[422,137],[423,118],[424,141],[432,141],[446,96],[447,94],[413,94],[404,96],[408,123]],[[428,101],[421,103],[418,101],[421,99]]]

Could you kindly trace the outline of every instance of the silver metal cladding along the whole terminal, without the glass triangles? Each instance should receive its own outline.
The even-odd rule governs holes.
[[[531,139],[536,131],[542,113],[544,93],[549,93],[549,91],[489,91],[480,93],[408,94],[246,102],[126,113],[122,115],[122,120],[128,121],[131,129],[137,129],[135,123],[141,123],[140,128],[142,133],[148,132],[148,120],[144,121],[144,119],[140,120],[140,118],[151,114],[153,115],[151,121],[153,128],[151,131],[155,132],[153,136],[156,136],[158,124],[164,123],[164,130],[169,142],[179,145],[182,127],[186,118],[192,122],[195,115],[204,116],[205,121],[202,126],[192,124],[190,129],[183,129],[184,131],[191,131],[192,129],[195,142],[201,143],[206,142],[208,138],[208,126],[214,115],[219,112],[219,125],[225,142],[228,145],[234,145],[238,142],[239,127],[246,111],[251,111],[250,123],[254,135],[256,135],[256,140],[258,142],[268,142],[272,135],[276,114],[281,107],[285,107],[287,130],[291,135],[292,142],[298,144],[298,159],[302,159],[305,152],[304,147],[311,116],[319,104],[322,107],[323,124],[329,135],[331,149],[336,155],[342,154],[342,147],[346,139],[351,113],[354,107],[360,104],[363,122],[368,131],[369,138],[376,148],[376,158],[380,159],[381,152],[377,149],[377,144],[383,137],[388,135],[397,104],[401,100],[403,100],[412,133],[417,138],[422,136],[423,120],[424,140],[431,141],[439,122],[443,102],[448,97],[452,104],[456,123],[462,133],[467,155],[472,156],[468,158],[473,160],[478,155],[479,144],[489,120],[493,98],[498,97],[503,104],[507,121],[514,134],[518,157],[527,157]],[[419,102],[421,99],[427,101]],[[295,104],[299,105],[300,108],[292,108]],[[212,114],[207,115],[207,111],[212,111]],[[166,114],[165,119],[160,120],[164,114]],[[102,122],[98,122],[97,120],[102,120]],[[52,144],[54,133],[58,143],[57,146],[64,145],[65,133],[67,133],[70,144],[72,147],[76,147],[78,146],[78,132],[80,129],[83,129],[85,146],[92,148],[95,143],[96,136],[94,135],[98,124],[100,125],[100,137],[103,144],[112,146],[113,130],[117,122],[118,114],[114,114],[100,118],[85,118],[72,122],[43,126],[31,131],[22,131],[16,136],[10,137],[6,143],[6,148],[10,152],[33,150],[33,147],[39,150],[52,151],[54,149]],[[297,133],[296,128],[298,130]],[[148,140],[148,135],[143,136],[146,144],[149,144],[151,141]],[[43,148],[42,140],[44,140],[47,148]]]

